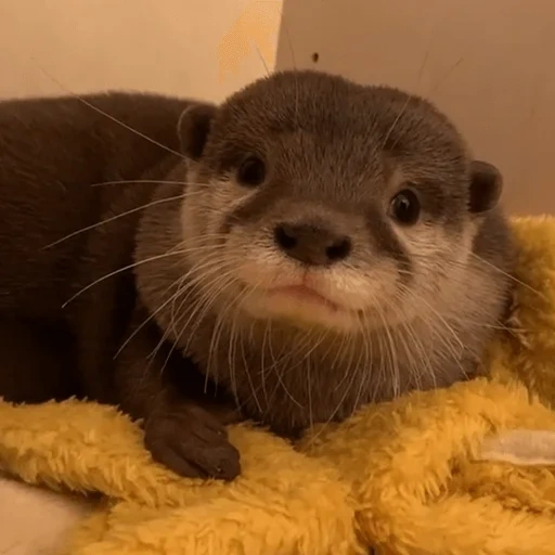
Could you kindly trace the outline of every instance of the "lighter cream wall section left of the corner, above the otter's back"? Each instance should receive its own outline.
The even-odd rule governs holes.
[[[280,11],[281,0],[1,0],[0,98],[113,88],[219,101],[273,67]]]

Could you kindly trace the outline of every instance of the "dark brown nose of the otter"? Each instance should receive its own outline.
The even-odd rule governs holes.
[[[274,241],[288,257],[310,266],[328,266],[344,260],[352,247],[349,237],[306,223],[278,224]]]

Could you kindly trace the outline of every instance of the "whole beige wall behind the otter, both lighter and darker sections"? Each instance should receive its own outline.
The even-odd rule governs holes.
[[[272,70],[281,12],[282,0],[0,0],[0,98],[135,89],[220,101]],[[276,67],[433,99],[503,170],[511,210],[555,212],[553,61],[553,0],[285,0]]]

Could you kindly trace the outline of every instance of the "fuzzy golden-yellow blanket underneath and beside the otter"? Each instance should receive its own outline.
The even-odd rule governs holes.
[[[514,225],[517,332],[490,380],[369,406],[296,450],[233,427],[230,485],[152,463],[115,410],[0,403],[0,467],[104,494],[72,555],[555,554],[555,219]]]

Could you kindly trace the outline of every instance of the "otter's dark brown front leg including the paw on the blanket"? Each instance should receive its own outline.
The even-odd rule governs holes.
[[[129,334],[147,318],[139,313]],[[233,411],[203,399],[193,376],[191,395],[179,391],[165,376],[167,364],[176,363],[168,362],[169,347],[153,356],[159,341],[156,335],[144,326],[117,357],[121,409],[143,420],[144,443],[155,461],[190,478],[235,478],[241,472],[240,454],[224,427],[233,420]]]

